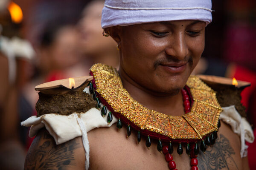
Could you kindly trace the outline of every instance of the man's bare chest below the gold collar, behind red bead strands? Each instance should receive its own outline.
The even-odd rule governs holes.
[[[93,137],[97,138],[96,142],[91,143],[89,138],[91,170],[169,170],[165,155],[157,151],[157,140],[151,140],[151,147],[148,150],[145,146],[145,138],[142,138],[140,144],[137,144],[136,134],[132,133],[127,139],[124,128],[119,132],[116,129],[100,131],[99,134],[97,132],[93,133]],[[235,147],[239,146],[230,143],[227,137],[219,134],[216,143],[212,147],[208,147],[205,153],[200,151],[198,169],[242,169],[239,148],[237,150],[234,149]],[[179,156],[177,145],[174,144],[172,156],[178,170],[191,169],[191,159],[186,154],[185,145],[183,145],[183,154]]]

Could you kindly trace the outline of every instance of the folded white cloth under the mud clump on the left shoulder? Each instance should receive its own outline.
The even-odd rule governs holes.
[[[21,122],[21,125],[31,126],[29,137],[35,136],[38,130],[46,127],[55,139],[56,144],[61,144],[82,135],[76,115],[84,121],[87,132],[96,127],[110,127],[117,122],[117,119],[113,116],[113,121],[108,125],[107,116],[102,117],[98,109],[91,108],[86,113],[72,113],[69,116],[55,113],[45,114],[40,117],[32,116]]]

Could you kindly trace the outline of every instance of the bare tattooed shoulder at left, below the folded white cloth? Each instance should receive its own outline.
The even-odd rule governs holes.
[[[29,148],[24,170],[71,170],[74,167],[85,168],[81,137],[56,145],[45,128],[40,130]]]

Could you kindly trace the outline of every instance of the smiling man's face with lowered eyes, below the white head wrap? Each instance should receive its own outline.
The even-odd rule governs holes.
[[[205,26],[179,20],[121,27],[120,69],[140,88],[177,94],[204,51]]]

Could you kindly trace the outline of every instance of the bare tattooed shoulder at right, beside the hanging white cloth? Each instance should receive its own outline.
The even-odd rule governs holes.
[[[221,122],[218,138],[213,147],[208,147],[206,153],[198,156],[199,169],[241,170],[247,169],[247,161],[241,159],[240,137],[233,132],[231,127]],[[209,163],[210,162],[210,163]]]

